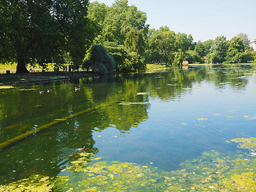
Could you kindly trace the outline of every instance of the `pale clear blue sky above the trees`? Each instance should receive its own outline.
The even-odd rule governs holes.
[[[90,0],[90,2],[94,2]],[[98,0],[110,6],[114,0]],[[256,39],[256,0],[129,0],[147,14],[150,28],[169,26],[202,42],[238,33]]]

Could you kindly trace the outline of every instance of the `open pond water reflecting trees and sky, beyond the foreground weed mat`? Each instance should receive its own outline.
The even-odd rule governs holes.
[[[190,66],[1,89],[0,142],[105,105],[0,150],[0,183],[56,175],[82,146],[102,161],[163,170],[204,151],[234,151],[226,141],[256,134],[255,71],[250,65]]]

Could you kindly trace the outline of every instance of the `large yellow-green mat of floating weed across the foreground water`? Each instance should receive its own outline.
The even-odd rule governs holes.
[[[213,150],[182,162],[180,170],[165,171],[153,167],[152,163],[142,166],[131,162],[105,162],[93,158],[94,154],[82,152],[66,164],[54,182],[37,175],[0,186],[0,190],[256,191],[256,138],[235,138],[232,142],[249,149],[250,155],[221,154]]]

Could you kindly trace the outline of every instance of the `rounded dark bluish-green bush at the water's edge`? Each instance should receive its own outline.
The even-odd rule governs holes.
[[[84,65],[89,65],[93,71],[99,74],[112,74],[115,67],[114,58],[106,52],[105,46],[93,46],[90,51],[90,60]]]

